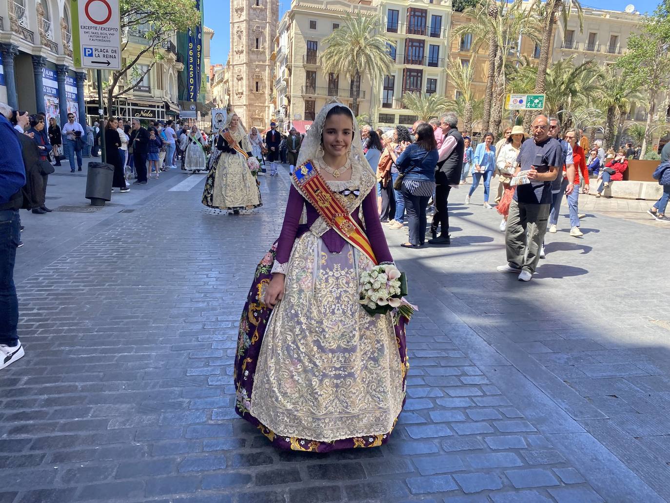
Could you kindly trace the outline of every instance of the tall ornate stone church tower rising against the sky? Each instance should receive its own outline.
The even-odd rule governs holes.
[[[230,1],[230,105],[252,126],[269,127],[279,0]]]

